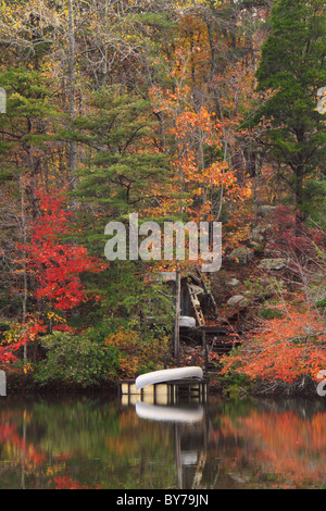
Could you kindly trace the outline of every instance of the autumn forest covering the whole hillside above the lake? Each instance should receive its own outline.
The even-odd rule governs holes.
[[[229,353],[210,350],[213,387],[316,391],[325,14],[323,0],[1,1],[0,369],[13,388],[175,366],[162,273],[199,272],[206,324],[241,331]],[[147,260],[109,261],[105,226],[131,213],[221,222],[220,271],[151,259],[150,242]],[[187,351],[181,365],[203,363]]]

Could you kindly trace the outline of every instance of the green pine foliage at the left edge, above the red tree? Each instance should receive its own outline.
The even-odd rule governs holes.
[[[50,85],[41,72],[24,66],[0,75],[0,87],[7,92],[7,114],[0,116],[0,178],[28,173],[35,180],[46,169],[59,116]]]

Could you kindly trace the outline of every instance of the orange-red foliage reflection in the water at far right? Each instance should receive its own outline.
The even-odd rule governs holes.
[[[286,404],[286,406],[285,406]],[[300,488],[325,484],[326,412],[312,403],[268,403],[225,413],[211,435],[226,486]],[[224,476],[225,476],[224,474]]]

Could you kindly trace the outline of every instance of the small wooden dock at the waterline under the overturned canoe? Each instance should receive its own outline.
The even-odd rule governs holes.
[[[118,394],[123,404],[135,404],[143,401],[151,404],[176,404],[185,402],[206,402],[209,381],[203,379],[175,379],[148,385],[137,389],[134,379],[118,382]]]

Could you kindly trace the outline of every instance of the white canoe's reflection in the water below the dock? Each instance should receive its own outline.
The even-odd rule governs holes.
[[[136,413],[140,419],[149,419],[151,421],[193,423],[202,420],[203,408],[158,407],[156,404],[137,401]]]

